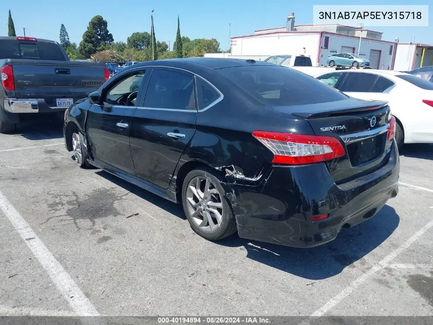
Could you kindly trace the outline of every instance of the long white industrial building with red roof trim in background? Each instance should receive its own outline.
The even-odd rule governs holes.
[[[340,24],[294,25],[290,13],[283,27],[259,29],[254,34],[231,37],[230,54],[207,53],[205,56],[264,60],[271,55],[308,55],[313,65],[326,66],[332,53],[356,53],[370,61],[372,69],[410,70],[432,65],[433,46],[403,44],[382,40],[382,32]],[[413,48],[412,50],[409,50]],[[394,66],[396,63],[396,66]]]

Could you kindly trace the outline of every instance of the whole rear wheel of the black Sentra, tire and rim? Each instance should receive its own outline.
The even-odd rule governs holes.
[[[182,185],[183,211],[191,228],[208,240],[219,240],[237,231],[232,206],[210,168],[193,169]]]

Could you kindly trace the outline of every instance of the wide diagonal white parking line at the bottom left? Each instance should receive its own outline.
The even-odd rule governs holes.
[[[16,211],[2,192],[0,192],[0,209],[12,223],[21,238],[23,238],[27,246],[29,246],[39,263],[47,271],[57,290],[68,301],[72,310],[78,316],[99,316],[90,300],[81,292],[71,276],[48,251],[45,244],[37,237],[26,220]]]

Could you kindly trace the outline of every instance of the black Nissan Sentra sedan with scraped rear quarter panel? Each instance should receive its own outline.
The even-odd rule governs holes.
[[[173,202],[209,240],[312,247],[398,193],[395,118],[307,75],[254,60],[123,69],[65,112],[66,148]]]

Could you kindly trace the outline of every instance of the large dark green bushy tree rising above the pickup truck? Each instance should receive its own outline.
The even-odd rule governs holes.
[[[113,35],[108,31],[107,21],[102,16],[96,15],[90,20],[83,34],[78,52],[85,58],[90,58],[90,55],[96,51],[107,49],[107,45],[113,41]]]

